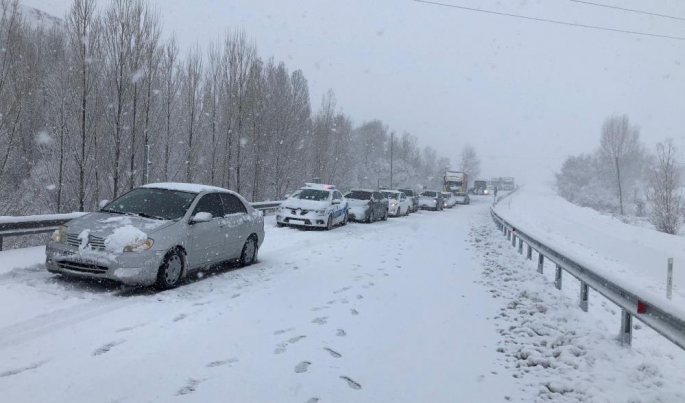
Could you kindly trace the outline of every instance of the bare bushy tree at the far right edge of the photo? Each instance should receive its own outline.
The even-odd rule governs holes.
[[[648,192],[652,202],[649,221],[657,231],[677,234],[682,223],[682,195],[680,193],[680,164],[676,160],[673,139],[656,146],[657,166],[652,173],[653,188]]]

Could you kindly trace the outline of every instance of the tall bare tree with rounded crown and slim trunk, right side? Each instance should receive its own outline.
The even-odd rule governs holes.
[[[605,163],[611,166],[618,191],[620,212],[623,214],[625,174],[640,151],[640,130],[637,126],[630,124],[627,115],[612,116],[602,125],[600,147]]]

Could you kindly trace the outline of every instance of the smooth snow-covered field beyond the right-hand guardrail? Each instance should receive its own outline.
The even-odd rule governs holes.
[[[530,235],[591,263],[617,282],[639,288],[641,295],[649,293],[654,300],[666,297],[667,262],[674,258],[673,301],[685,308],[684,238],[578,207],[542,186],[522,188],[498,211]]]

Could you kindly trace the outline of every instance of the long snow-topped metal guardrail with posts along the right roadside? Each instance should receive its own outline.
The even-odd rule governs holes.
[[[671,301],[646,295],[639,287],[628,282],[608,278],[608,276],[598,273],[597,270],[593,270],[589,267],[590,265],[575,261],[561,251],[545,245],[542,241],[528,235],[524,228],[504,219],[494,207],[490,209],[490,213],[502,234],[511,241],[511,245],[513,247],[518,246],[519,254],[523,254],[524,244],[527,245],[528,260],[533,259],[533,250],[537,252],[538,272],[543,272],[545,258],[556,265],[554,281],[556,288],[561,289],[563,271],[580,281],[579,305],[583,311],[587,312],[588,310],[590,288],[618,305],[622,310],[619,331],[619,341],[622,344],[631,344],[632,318],[637,318],[678,347],[685,349],[685,311],[680,307]]]

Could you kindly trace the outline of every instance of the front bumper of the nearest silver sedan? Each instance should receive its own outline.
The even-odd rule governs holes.
[[[51,273],[72,277],[149,286],[157,280],[164,255],[165,252],[154,250],[119,255],[95,251],[82,253],[69,245],[50,242],[45,248],[45,267]]]

